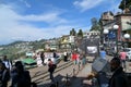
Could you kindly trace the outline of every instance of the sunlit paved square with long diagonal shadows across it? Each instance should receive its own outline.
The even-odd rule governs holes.
[[[50,79],[49,79],[49,73],[47,72],[48,66],[39,66],[29,70],[32,82],[37,83],[38,87],[49,87]],[[55,79],[59,82],[59,87],[64,87],[67,85],[67,75],[68,80],[70,82],[69,87],[81,87],[82,79],[87,76],[87,73],[91,73],[91,63],[87,63],[85,67],[79,69],[78,65],[74,65],[73,62],[68,61],[63,62],[61,61],[57,69],[55,75]],[[76,86],[76,84],[79,86]]]

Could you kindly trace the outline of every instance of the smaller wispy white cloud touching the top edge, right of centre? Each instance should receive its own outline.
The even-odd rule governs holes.
[[[90,10],[92,8],[97,7],[104,0],[81,0],[81,1],[74,1],[73,4],[80,9],[82,12]]]

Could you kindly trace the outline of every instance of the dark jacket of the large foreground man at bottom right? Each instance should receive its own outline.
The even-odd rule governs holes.
[[[128,77],[122,67],[116,70],[109,80],[109,87],[129,87]]]

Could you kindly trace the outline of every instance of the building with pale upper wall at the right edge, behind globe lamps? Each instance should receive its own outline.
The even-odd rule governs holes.
[[[131,47],[131,37],[129,39],[124,38],[124,34],[131,36],[131,13],[118,14],[116,17],[116,24],[119,25],[118,28],[118,39],[123,44],[128,44]]]

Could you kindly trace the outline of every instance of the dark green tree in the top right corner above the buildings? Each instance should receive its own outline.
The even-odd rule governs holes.
[[[121,0],[119,9],[124,10],[126,8],[131,11],[131,0]]]

